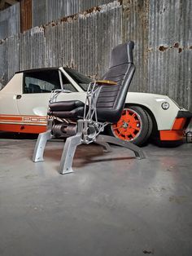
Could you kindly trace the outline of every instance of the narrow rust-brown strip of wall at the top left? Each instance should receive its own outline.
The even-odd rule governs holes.
[[[20,30],[21,33],[32,28],[32,0],[20,2]]]

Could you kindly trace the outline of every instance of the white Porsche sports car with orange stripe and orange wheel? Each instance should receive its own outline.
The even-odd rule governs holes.
[[[15,73],[0,90],[0,130],[38,134],[46,130],[52,90],[63,90],[57,100],[85,101],[91,79],[72,68],[40,68]],[[142,145],[153,137],[181,141],[192,113],[165,95],[129,92],[124,111],[106,132]]]

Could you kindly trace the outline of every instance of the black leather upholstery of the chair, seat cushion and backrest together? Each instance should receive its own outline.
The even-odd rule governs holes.
[[[124,108],[124,101],[135,70],[133,64],[134,43],[129,41],[116,46],[111,52],[111,64],[103,80],[117,82],[117,85],[98,84],[98,121],[116,123]],[[51,103],[48,115],[77,120],[84,117],[85,105],[81,101],[60,101]]]

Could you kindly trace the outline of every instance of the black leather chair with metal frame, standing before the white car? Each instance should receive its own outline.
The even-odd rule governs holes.
[[[33,153],[33,161],[43,161],[47,139],[67,136],[61,157],[59,172],[71,173],[76,146],[81,143],[98,143],[111,151],[108,143],[129,148],[137,158],[145,158],[141,148],[133,143],[112,136],[101,135],[109,123],[119,121],[125,98],[133,78],[134,43],[129,41],[116,46],[111,52],[111,65],[101,81],[91,82],[85,104],[79,100],[53,102],[49,105],[49,129],[39,135]]]

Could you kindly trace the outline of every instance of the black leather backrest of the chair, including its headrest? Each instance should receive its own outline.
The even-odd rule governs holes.
[[[100,86],[97,100],[99,121],[116,122],[120,119],[135,70],[133,47],[134,43],[129,41],[116,46],[111,52],[110,68],[103,79],[117,82],[117,85]]]

